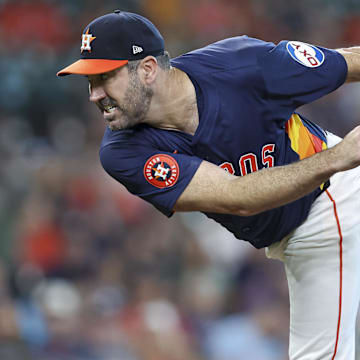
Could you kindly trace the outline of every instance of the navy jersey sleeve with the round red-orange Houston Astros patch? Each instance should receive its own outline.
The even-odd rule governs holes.
[[[99,155],[111,177],[168,217],[202,161],[196,156],[116,143],[102,147]]]

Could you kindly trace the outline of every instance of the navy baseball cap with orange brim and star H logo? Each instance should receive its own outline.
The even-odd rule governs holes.
[[[81,58],[56,75],[102,74],[131,60],[164,54],[164,39],[141,15],[115,10],[93,20],[82,34]]]

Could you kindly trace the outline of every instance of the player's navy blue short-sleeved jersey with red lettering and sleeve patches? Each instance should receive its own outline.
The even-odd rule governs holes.
[[[295,110],[335,90],[347,74],[336,51],[246,36],[184,54],[172,66],[186,72],[195,86],[195,135],[147,125],[107,129],[100,149],[104,169],[167,216],[202,160],[245,176],[325,149],[324,131]],[[255,216],[206,215],[261,248],[299,226],[321,191]]]

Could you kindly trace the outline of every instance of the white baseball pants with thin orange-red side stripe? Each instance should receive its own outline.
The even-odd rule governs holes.
[[[328,146],[341,139],[328,133]],[[307,220],[266,249],[284,262],[290,360],[354,360],[360,299],[360,167],[337,173]]]

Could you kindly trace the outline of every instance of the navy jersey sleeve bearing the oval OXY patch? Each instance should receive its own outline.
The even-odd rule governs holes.
[[[270,99],[294,109],[336,90],[347,75],[340,53],[299,41],[281,41],[258,64]]]

